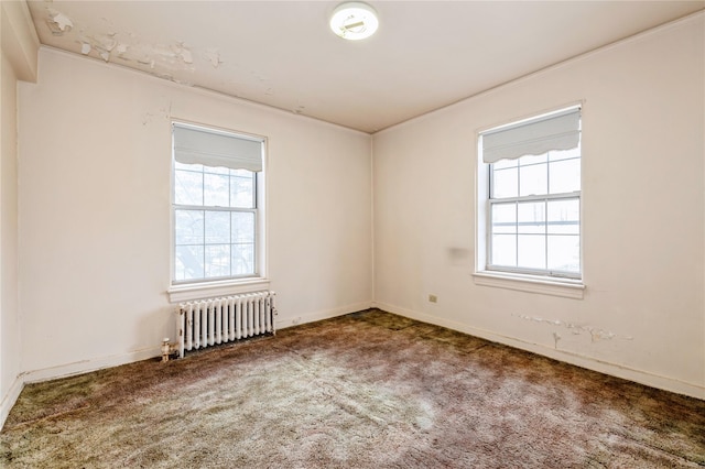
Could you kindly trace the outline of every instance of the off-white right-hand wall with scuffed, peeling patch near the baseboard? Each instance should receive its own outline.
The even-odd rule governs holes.
[[[376,134],[377,304],[705,397],[703,30],[691,17]],[[576,101],[584,298],[476,285],[477,131]]]

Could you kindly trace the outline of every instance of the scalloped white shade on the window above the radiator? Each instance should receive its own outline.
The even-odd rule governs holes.
[[[262,171],[262,141],[174,126],[174,159],[230,170]]]

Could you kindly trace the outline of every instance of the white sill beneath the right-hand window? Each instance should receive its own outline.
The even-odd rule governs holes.
[[[476,285],[561,296],[564,298],[583,299],[583,294],[585,293],[585,284],[579,280],[571,279],[546,279],[536,275],[480,271],[473,274],[473,280]]]

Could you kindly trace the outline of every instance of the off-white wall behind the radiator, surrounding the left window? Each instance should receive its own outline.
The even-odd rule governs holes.
[[[22,370],[159,355],[174,337],[171,119],[268,137],[279,325],[369,307],[370,137],[53,50],[20,86]]]

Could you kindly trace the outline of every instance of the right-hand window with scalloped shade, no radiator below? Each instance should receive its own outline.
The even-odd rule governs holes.
[[[581,110],[480,133],[486,272],[582,277]]]

